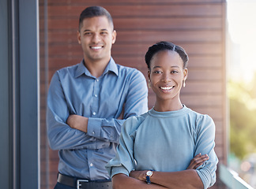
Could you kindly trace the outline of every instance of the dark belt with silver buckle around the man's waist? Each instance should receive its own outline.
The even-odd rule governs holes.
[[[58,183],[81,189],[112,189],[111,180],[84,180],[58,173]]]

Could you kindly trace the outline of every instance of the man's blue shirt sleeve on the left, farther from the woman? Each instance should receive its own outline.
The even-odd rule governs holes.
[[[100,147],[99,143],[92,143],[95,139],[77,129],[70,128],[66,119],[70,116],[66,98],[62,90],[62,83],[58,72],[51,79],[47,95],[47,136],[51,149],[72,150],[81,148]]]

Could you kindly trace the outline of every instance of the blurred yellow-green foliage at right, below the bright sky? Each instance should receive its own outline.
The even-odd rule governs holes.
[[[256,74],[251,83],[228,82],[230,150],[239,159],[256,152]]]

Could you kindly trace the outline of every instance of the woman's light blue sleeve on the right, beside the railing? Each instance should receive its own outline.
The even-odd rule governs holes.
[[[214,151],[215,124],[213,119],[207,115],[201,115],[198,119],[198,132],[196,133],[196,154],[208,154],[209,160],[198,167],[197,172],[200,176],[204,188],[213,186],[216,182],[216,165],[218,158]]]

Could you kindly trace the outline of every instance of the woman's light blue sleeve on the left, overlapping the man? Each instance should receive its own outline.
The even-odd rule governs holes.
[[[115,158],[106,165],[107,172],[111,177],[118,173],[129,176],[130,171],[135,169],[134,135],[139,123],[137,117],[130,117],[123,124]]]

